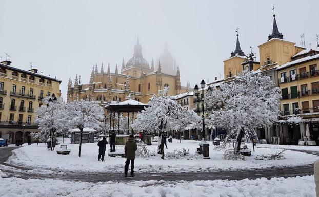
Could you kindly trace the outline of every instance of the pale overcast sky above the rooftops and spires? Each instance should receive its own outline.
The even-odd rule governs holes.
[[[218,2],[218,3],[216,3]],[[223,77],[223,60],[235,49],[240,28],[242,50],[267,41],[275,6],[278,28],[288,41],[316,46],[319,1],[0,1],[0,56],[12,66],[39,69],[62,80],[88,83],[92,65],[110,63],[111,72],[133,55],[136,37],[150,63],[165,43],[181,69],[181,82]],[[105,68],[106,71],[106,68]]]

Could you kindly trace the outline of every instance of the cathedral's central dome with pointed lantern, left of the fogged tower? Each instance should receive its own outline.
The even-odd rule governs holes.
[[[133,57],[126,63],[125,68],[137,67],[143,69],[150,69],[148,62],[143,58],[142,55],[142,46],[139,45],[139,39],[137,38],[137,43],[134,47]]]

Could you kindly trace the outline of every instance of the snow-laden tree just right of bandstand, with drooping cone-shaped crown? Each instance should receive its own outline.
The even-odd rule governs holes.
[[[159,133],[158,153],[162,154],[162,159],[164,159],[163,132],[177,127],[181,129],[192,123],[196,124],[199,119],[196,113],[185,110],[170,96],[167,96],[168,90],[169,87],[165,87],[163,91],[158,93],[158,96],[154,95],[148,103],[148,107],[137,115],[134,124],[132,124],[133,129],[143,130],[147,133]]]

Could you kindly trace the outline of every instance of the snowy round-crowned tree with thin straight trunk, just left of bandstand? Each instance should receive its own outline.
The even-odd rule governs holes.
[[[66,110],[61,113],[61,118],[66,121],[69,128],[80,130],[80,143],[78,157],[81,157],[83,128],[100,128],[100,123],[104,119],[103,108],[90,101],[74,101],[67,104]]]

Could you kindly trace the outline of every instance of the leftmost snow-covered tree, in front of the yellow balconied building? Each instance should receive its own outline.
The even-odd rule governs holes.
[[[34,138],[46,141],[51,138],[52,142],[55,133],[62,132],[65,129],[64,120],[59,119],[65,104],[62,98],[53,99],[53,97],[46,97],[43,99],[46,105],[43,105],[35,111],[38,115],[35,117],[35,123],[39,126],[39,132],[34,134]]]

